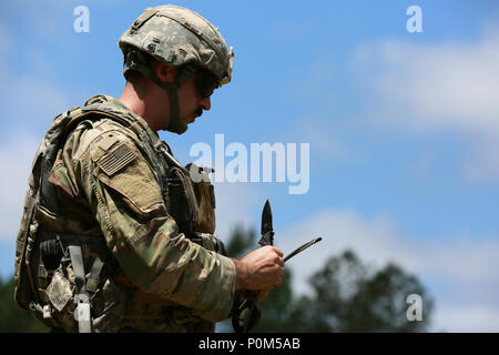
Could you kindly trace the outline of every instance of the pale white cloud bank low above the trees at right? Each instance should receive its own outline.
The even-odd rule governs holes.
[[[324,265],[327,257],[352,248],[375,268],[383,267],[387,262],[395,262],[421,280],[430,278],[451,285],[455,295],[449,295],[438,287],[429,290],[437,306],[435,331],[464,329],[466,316],[472,316],[475,322],[478,315],[485,312],[477,311],[477,302],[489,302],[490,298],[499,296],[499,287],[493,284],[499,270],[497,241],[457,237],[451,241],[426,239],[415,242],[414,237],[409,239],[386,217],[369,221],[353,211],[334,210],[324,211],[292,225],[282,234],[286,235],[286,239],[279,239],[278,247],[285,253],[313,237],[323,236],[322,242],[289,261],[288,267],[295,275],[298,293],[309,292],[306,280]],[[485,290],[487,294],[483,293]],[[450,316],[457,307],[457,301],[460,302],[459,312],[464,317],[459,323],[455,323]],[[469,329],[499,331],[499,304],[492,304],[490,307],[496,313],[489,314],[486,323],[481,325],[479,321],[470,324]]]

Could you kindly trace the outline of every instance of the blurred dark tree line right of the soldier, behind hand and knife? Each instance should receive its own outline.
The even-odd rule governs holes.
[[[228,243],[227,255],[241,257],[257,246],[254,230],[237,226]],[[301,257],[307,257],[303,255]],[[353,251],[329,257],[309,278],[309,295],[296,295],[293,275],[286,270],[283,283],[259,304],[262,317],[254,332],[425,332],[428,329],[432,300],[415,275],[388,264],[375,270]],[[422,300],[422,321],[409,322],[407,296]],[[231,332],[230,321],[222,332]]]

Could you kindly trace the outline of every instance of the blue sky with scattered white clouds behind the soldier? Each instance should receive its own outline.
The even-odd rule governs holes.
[[[77,33],[77,6],[90,32]],[[118,40],[159,1],[0,3],[0,275],[13,246],[34,150],[52,118],[124,84]],[[234,47],[233,81],[183,135],[183,162],[225,143],[309,143],[310,187],[217,183],[217,232],[258,227],[266,199],[284,252],[322,235],[294,266],[296,287],[353,247],[417,274],[434,329],[499,331],[499,6],[493,1],[177,1]],[[406,10],[422,11],[409,33]],[[230,159],[226,159],[230,160]],[[293,265],[291,265],[293,267]]]

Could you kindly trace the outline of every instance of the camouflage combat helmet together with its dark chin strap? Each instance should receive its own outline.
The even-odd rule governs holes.
[[[179,118],[177,88],[203,70],[203,97],[231,81],[234,52],[217,28],[198,13],[177,6],[145,9],[122,34],[119,45],[123,51],[123,74],[140,71],[161,88],[170,99],[169,131],[183,133],[186,124]],[[177,67],[174,82],[163,82],[149,65],[147,58]],[[206,75],[207,73],[207,75]]]

